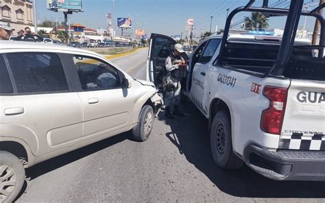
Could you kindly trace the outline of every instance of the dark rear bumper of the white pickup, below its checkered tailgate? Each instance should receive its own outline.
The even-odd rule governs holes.
[[[248,145],[243,155],[248,166],[267,178],[325,180],[325,152],[270,152],[256,145]]]

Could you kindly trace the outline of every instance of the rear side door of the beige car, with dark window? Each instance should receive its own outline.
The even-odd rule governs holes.
[[[36,156],[82,138],[80,99],[67,80],[69,73],[60,56],[45,52],[0,56],[0,69],[8,67],[13,84],[11,94],[0,94],[0,134],[24,139]]]

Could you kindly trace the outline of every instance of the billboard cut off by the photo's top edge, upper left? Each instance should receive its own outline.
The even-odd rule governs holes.
[[[82,11],[82,0],[47,0],[47,9]]]

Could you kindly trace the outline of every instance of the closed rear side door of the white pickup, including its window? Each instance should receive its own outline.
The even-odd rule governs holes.
[[[191,99],[193,103],[199,108],[204,115],[208,115],[208,107],[206,106],[206,78],[208,71],[215,60],[215,52],[217,51],[221,38],[213,38],[202,44],[204,51],[199,60],[193,66],[193,73],[191,78]],[[199,54],[199,53],[197,53]],[[213,57],[215,56],[215,57]],[[192,64],[193,65],[193,64]]]

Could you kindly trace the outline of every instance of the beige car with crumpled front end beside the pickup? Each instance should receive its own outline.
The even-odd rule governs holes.
[[[129,130],[148,139],[163,105],[152,82],[84,49],[0,47],[0,202],[14,202],[25,168]]]

